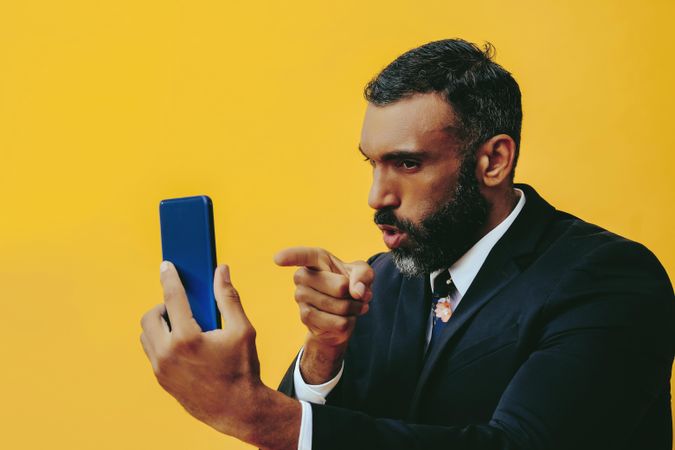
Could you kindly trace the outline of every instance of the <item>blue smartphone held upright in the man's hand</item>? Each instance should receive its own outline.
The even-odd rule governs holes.
[[[162,260],[171,261],[185,287],[192,315],[202,331],[221,327],[213,293],[216,238],[213,203],[206,195],[159,203]]]

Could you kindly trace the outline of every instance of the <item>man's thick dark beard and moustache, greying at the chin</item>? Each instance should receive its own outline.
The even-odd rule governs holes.
[[[391,250],[401,273],[412,277],[448,268],[476,243],[490,205],[480,193],[475,167],[473,157],[462,161],[450,200],[420,225],[398,219],[393,208],[375,212],[376,224],[394,226],[408,235],[404,245]]]

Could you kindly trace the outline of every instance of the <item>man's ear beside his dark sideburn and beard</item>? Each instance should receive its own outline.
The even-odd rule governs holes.
[[[491,137],[476,152],[476,178],[485,187],[511,181],[516,143],[508,134]]]

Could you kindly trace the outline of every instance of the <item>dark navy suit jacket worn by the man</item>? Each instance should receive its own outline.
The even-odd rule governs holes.
[[[327,404],[312,405],[313,450],[671,450],[675,299],[663,267],[518,187],[524,209],[426,358],[428,276],[402,276],[389,253],[369,260],[370,311]]]

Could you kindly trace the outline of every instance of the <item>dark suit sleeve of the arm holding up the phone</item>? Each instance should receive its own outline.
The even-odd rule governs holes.
[[[535,348],[488,423],[429,426],[312,405],[313,448],[656,448],[649,439],[672,438],[627,439],[650,409],[670,411],[674,305],[668,277],[648,250],[606,244],[568,270],[527,319],[536,323],[527,327]]]

